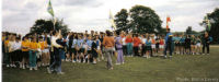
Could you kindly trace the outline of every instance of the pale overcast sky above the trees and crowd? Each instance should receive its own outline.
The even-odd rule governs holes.
[[[199,25],[206,13],[219,8],[219,0],[51,0],[55,15],[73,32],[105,31],[111,28],[108,12],[116,14],[120,9],[130,9],[136,4],[150,7],[158,13],[165,26],[166,15],[171,16],[173,32],[185,31]],[[22,35],[30,32],[37,19],[51,19],[47,12],[48,0],[3,0],[2,31]]]

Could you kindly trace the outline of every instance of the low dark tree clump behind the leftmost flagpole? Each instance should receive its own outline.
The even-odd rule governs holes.
[[[69,32],[69,28],[66,24],[64,24],[62,20],[57,20],[55,23],[55,30],[61,30],[62,35]],[[53,20],[36,20],[35,24],[31,27],[30,34],[42,34],[42,33],[49,33],[54,31],[54,23]]]

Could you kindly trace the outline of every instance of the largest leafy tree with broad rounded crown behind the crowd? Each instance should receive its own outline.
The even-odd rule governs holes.
[[[130,9],[128,27],[134,33],[159,33],[162,31],[159,15],[149,7],[135,5]]]

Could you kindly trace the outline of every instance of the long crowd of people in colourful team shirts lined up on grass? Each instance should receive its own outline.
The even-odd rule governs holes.
[[[3,65],[9,68],[20,67],[37,70],[47,67],[48,73],[61,71],[61,61],[93,63],[106,61],[113,70],[112,56],[115,65],[124,65],[124,57],[163,57],[174,55],[209,55],[212,38],[208,33],[200,36],[172,34],[166,35],[137,34],[127,32],[69,32],[62,36],[60,31],[21,36],[14,33],[2,33]],[[207,54],[205,49],[207,48]]]

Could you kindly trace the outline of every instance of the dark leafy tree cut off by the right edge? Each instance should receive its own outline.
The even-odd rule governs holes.
[[[208,19],[210,20],[210,31],[209,31],[209,35],[214,38],[214,43],[219,43],[219,37],[218,37],[218,33],[219,33],[219,8],[216,8],[214,12],[208,13],[206,16],[208,16]],[[203,26],[207,26],[206,25],[206,21],[204,17],[204,21],[200,23],[200,25]]]

